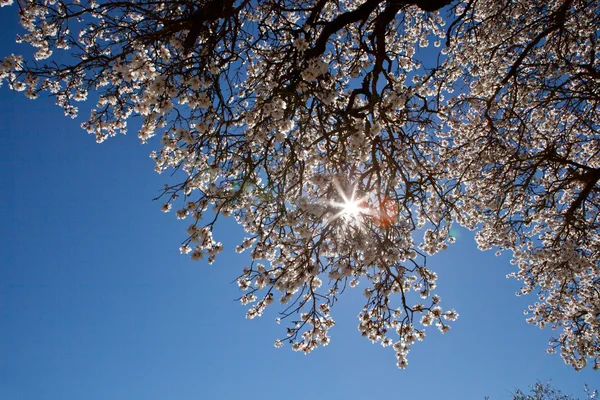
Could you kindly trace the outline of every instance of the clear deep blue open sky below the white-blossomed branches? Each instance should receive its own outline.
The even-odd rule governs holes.
[[[16,8],[0,10],[0,57],[14,52]],[[525,323],[508,257],[472,235],[431,257],[442,304],[460,318],[431,330],[408,369],[360,337],[362,289],[333,311],[332,342],[308,356],[275,349],[271,310],[246,320],[231,283],[242,232],[216,232],[209,266],[179,255],[185,222],[153,202],[168,176],[133,132],[95,143],[52,101],[0,88],[0,399],[507,399],[552,379],[576,395],[598,373],[545,354],[548,331]],[[359,286],[360,288],[360,286]]]

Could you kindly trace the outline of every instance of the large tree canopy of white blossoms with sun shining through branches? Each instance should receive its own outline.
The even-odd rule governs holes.
[[[0,0],[0,5],[13,0]],[[212,263],[221,216],[247,232],[247,317],[278,301],[277,347],[329,343],[362,281],[359,331],[398,366],[442,309],[426,256],[477,230],[510,250],[529,322],[600,366],[600,4],[593,0],[18,0],[31,59],[0,83],[98,142],[141,117],[181,252]],[[158,143],[157,140],[157,143]]]

